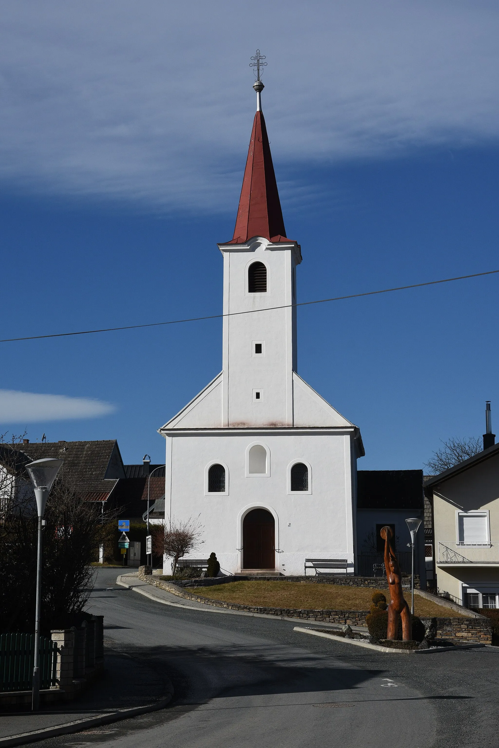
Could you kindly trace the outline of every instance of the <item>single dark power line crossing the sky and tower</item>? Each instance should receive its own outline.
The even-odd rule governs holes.
[[[275,309],[291,309],[293,307],[307,307],[310,304],[325,304],[327,301],[343,301],[346,298],[359,298],[361,296],[374,296],[378,293],[391,293],[392,291],[405,291],[409,288],[420,288],[421,286],[435,286],[437,283],[450,283],[451,281],[465,281],[467,278],[480,278],[481,275],[494,275],[499,270],[488,270],[484,273],[473,273],[472,275],[458,275],[456,278],[443,278],[441,281],[426,281],[426,283],[412,283],[411,286],[396,286],[395,288],[384,288],[379,291],[366,291],[364,293],[351,293],[347,296],[333,296],[331,298],[318,298],[315,301],[300,301],[299,304],[283,304],[281,307],[266,307],[266,309],[250,309],[244,312],[229,312],[228,314],[210,314],[204,317],[188,317],[186,319],[169,319],[168,322],[149,322],[146,325],[124,325],[117,328],[101,328],[100,330],[79,330],[77,332],[57,332],[50,335],[30,335],[28,337],[7,337],[0,343],[15,343],[18,340],[42,340],[46,337],[68,337],[70,335],[91,335],[96,332],[114,332],[117,330],[137,330],[138,328],[159,327],[161,325],[180,325],[183,322],[200,322],[203,319],[221,319],[222,317],[239,316],[239,314],[254,314],[257,312],[269,312]]]

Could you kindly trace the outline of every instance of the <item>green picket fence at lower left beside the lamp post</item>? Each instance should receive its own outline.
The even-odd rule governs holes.
[[[33,685],[34,634],[0,635],[0,691],[28,691]],[[55,686],[57,643],[40,637],[40,688]]]

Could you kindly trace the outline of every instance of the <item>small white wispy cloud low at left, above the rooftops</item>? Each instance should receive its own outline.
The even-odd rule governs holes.
[[[0,423],[97,418],[115,409],[109,402],[86,397],[0,390]]]

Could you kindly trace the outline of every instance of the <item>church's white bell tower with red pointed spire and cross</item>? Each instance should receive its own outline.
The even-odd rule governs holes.
[[[296,266],[287,239],[255,62],[257,112],[242,180],[236,227],[224,255],[223,425],[293,426],[296,371]]]

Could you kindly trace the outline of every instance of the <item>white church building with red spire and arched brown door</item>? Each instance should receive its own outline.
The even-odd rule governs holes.
[[[257,91],[236,228],[224,257],[222,370],[159,429],[165,521],[197,518],[223,574],[355,570],[358,426],[297,372],[296,272]],[[202,548],[202,551],[200,550]],[[170,562],[165,562],[170,573]],[[310,573],[310,572],[309,572]],[[312,571],[313,573],[313,571]]]

